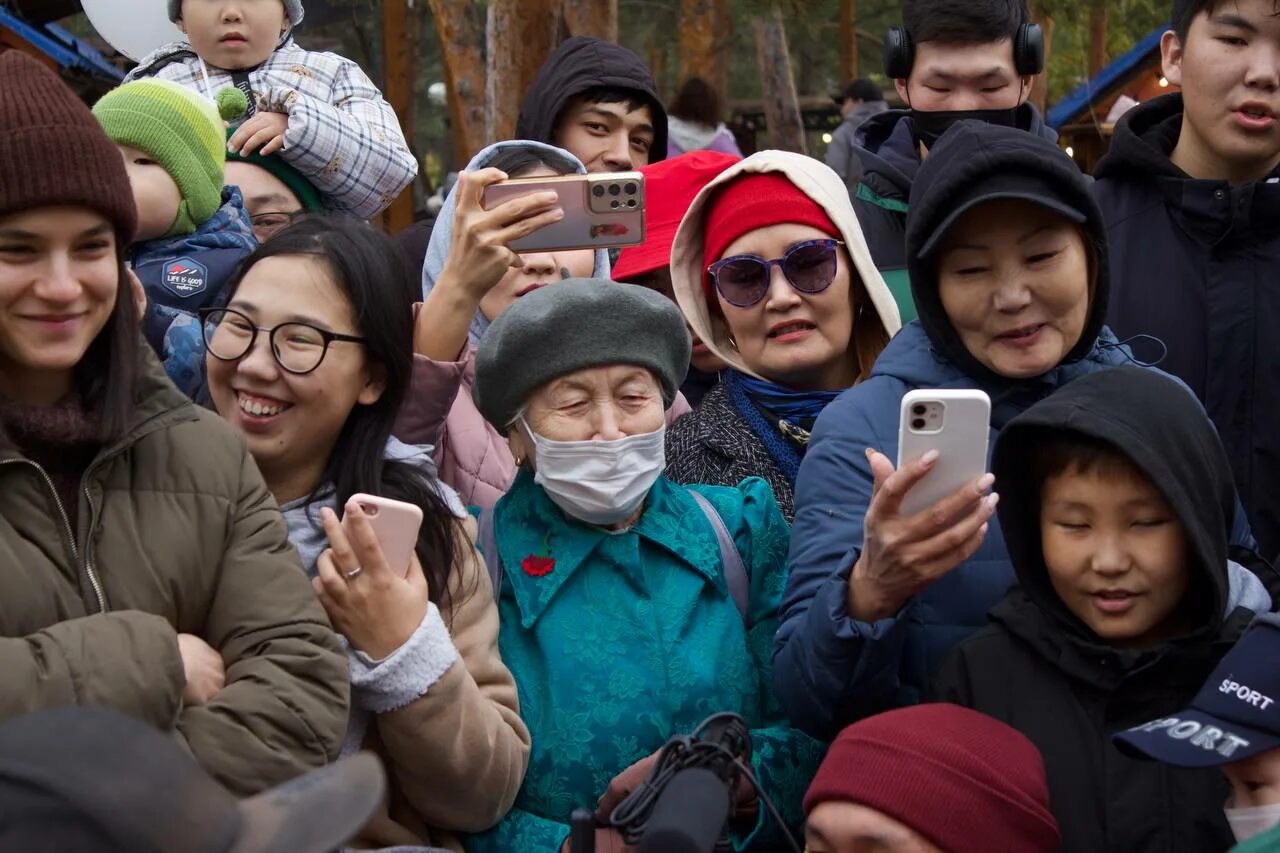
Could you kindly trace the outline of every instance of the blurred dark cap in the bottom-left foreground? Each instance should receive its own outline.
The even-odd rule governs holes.
[[[385,790],[378,758],[360,753],[237,800],[175,734],[115,711],[0,725],[0,853],[326,853]]]

